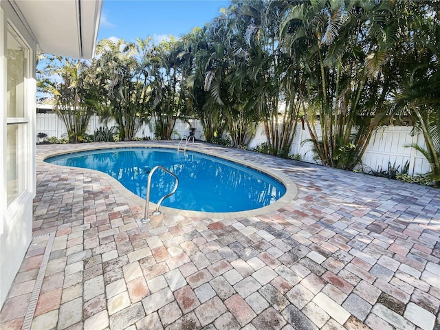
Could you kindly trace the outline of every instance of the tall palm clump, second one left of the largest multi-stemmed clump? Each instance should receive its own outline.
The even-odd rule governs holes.
[[[254,82],[248,76],[243,23],[239,3],[232,3],[209,25],[207,33],[211,52],[204,89],[210,91],[209,103],[223,115],[233,146],[249,144],[259,119],[253,109]]]

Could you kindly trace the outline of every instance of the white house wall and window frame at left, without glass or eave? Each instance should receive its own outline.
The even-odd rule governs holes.
[[[3,305],[10,285],[14,281],[21,261],[28,250],[32,239],[32,199],[35,196],[35,144],[34,134],[27,134],[20,143],[23,155],[23,171],[25,173],[24,191],[14,199],[8,206],[7,202],[7,173],[6,158],[8,157],[7,134],[6,134],[6,45],[5,36],[8,30],[8,23],[13,30],[19,34],[21,39],[28,44],[30,52],[28,54],[28,78],[25,79],[26,98],[25,118],[29,122],[23,127],[28,132],[32,132],[35,122],[35,50],[36,43],[32,39],[30,32],[17,17],[16,12],[8,1],[0,2],[0,102],[3,109],[0,116],[0,307]],[[28,111],[28,112],[26,112]]]

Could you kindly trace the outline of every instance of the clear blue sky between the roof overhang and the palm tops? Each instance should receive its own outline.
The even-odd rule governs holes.
[[[225,0],[104,0],[98,41],[104,38],[135,41],[136,37],[161,41],[181,36],[217,17]]]

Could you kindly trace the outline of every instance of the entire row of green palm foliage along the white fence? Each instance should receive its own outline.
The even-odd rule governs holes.
[[[83,138],[91,113],[115,120],[115,140],[133,140],[145,122],[168,140],[177,118],[194,115],[208,142],[225,144],[228,134],[235,147],[263,122],[267,142],[256,150],[293,157],[301,124],[321,164],[349,170],[378,127],[409,115],[426,144],[412,147],[440,186],[439,6],[232,0],[179,39],[103,40],[89,63],[56,58],[38,86],[56,95],[71,141]],[[45,75],[58,69],[61,85]]]

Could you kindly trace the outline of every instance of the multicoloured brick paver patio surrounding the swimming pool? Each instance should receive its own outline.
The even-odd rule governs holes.
[[[21,329],[45,252],[31,329],[440,329],[440,190],[197,149],[281,170],[298,194],[252,217],[143,224],[140,199],[107,175],[38,160],[35,238],[0,329]]]

